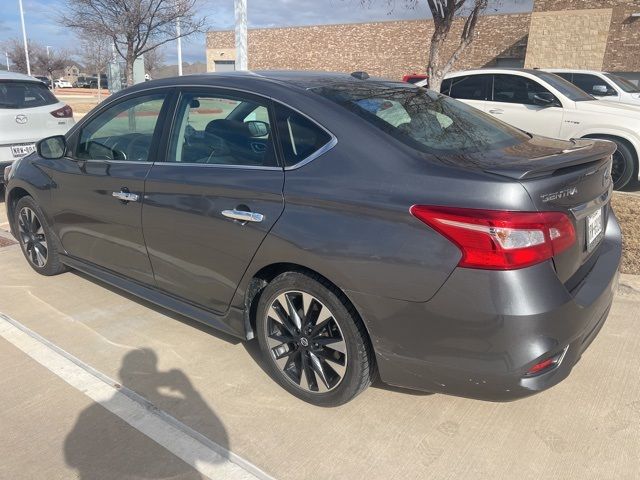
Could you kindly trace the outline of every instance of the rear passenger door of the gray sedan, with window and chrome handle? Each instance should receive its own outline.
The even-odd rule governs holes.
[[[284,208],[273,107],[226,89],[175,102],[164,161],[145,183],[149,259],[160,289],[223,313]]]

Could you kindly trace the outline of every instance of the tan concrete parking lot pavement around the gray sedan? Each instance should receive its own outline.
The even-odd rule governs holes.
[[[621,282],[571,376],[540,395],[494,404],[377,386],[320,409],[272,382],[254,343],[78,273],[39,276],[17,245],[0,248],[0,312],[279,479],[637,478],[640,279]],[[2,340],[0,362],[0,477],[200,478]],[[99,470],[112,448],[115,473]]]

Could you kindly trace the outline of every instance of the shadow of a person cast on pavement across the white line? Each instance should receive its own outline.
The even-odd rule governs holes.
[[[181,370],[159,371],[153,350],[128,352],[119,371],[122,385],[167,413],[184,412],[179,420],[229,451],[224,425],[194,390]],[[64,443],[67,465],[83,480],[201,479],[189,464],[173,455],[105,407],[93,403],[82,411]],[[175,413],[173,413],[175,415]],[[189,453],[187,453],[189,454]],[[197,461],[197,458],[192,460]],[[208,461],[208,460],[207,460]]]

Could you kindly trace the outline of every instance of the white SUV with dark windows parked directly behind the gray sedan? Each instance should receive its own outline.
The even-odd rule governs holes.
[[[553,73],[491,68],[446,76],[441,92],[526,132],[550,138],[599,138],[617,145],[613,180],[638,179],[640,109],[602,102]]]

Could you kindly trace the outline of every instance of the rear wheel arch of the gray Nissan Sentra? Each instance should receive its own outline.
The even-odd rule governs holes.
[[[313,270],[312,268],[289,262],[277,262],[266,265],[258,270],[249,281],[244,294],[244,321],[247,339],[252,339],[255,337],[256,313],[262,292],[274,278],[285,272],[299,272],[306,274],[312,277],[314,280],[318,280],[320,283],[324,284],[326,287],[329,287],[334,293],[336,293],[340,300],[345,303],[347,309],[353,311],[358,317],[358,320],[362,322],[362,325],[364,325],[364,328],[367,332],[367,339],[369,341],[371,351],[375,351],[373,348],[371,332],[367,326],[367,322],[364,321],[364,318],[358,311],[357,306],[344,292],[344,290],[342,290],[338,285],[336,285],[326,276]]]

